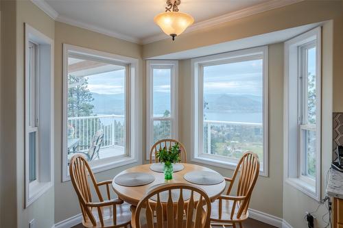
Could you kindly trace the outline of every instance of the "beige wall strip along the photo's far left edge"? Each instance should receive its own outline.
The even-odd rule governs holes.
[[[16,2],[1,1],[1,214],[0,227],[16,227]],[[6,23],[5,23],[6,22]],[[5,86],[6,85],[6,86]],[[6,98],[6,99],[5,99]],[[6,129],[6,131],[4,130]],[[6,132],[6,134],[3,134]],[[5,208],[5,210],[3,210]]]

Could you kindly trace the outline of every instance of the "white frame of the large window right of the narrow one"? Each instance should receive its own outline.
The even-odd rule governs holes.
[[[203,114],[203,92],[202,92],[202,70],[206,64],[222,64],[229,62],[241,62],[246,60],[263,59],[263,160],[259,175],[268,177],[268,46],[255,47],[229,53],[210,55],[191,60],[192,75],[192,146],[191,161],[202,164],[219,166],[234,170],[237,161],[224,159],[222,156],[206,155],[202,153],[202,114]]]

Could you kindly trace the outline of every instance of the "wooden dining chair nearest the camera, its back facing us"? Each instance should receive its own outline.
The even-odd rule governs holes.
[[[173,190],[180,191],[176,197],[174,195],[174,201]],[[189,199],[184,199],[184,190],[190,191]],[[162,197],[163,193],[166,193],[165,197]],[[145,213],[142,215],[143,208]],[[132,212],[131,223],[132,228],[208,228],[210,214],[211,201],[206,192],[189,183],[169,183],[145,194]],[[142,220],[145,221],[141,223]]]

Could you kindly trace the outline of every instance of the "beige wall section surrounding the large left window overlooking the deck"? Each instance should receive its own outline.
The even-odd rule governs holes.
[[[60,132],[60,134],[55,134],[55,223],[58,223],[80,214],[80,205],[71,181],[62,183],[62,44],[77,45],[139,59],[139,97],[141,99],[139,103],[141,104],[144,101],[142,94],[144,80],[140,45],[60,22],[56,22],[55,35],[55,132]],[[142,105],[140,105],[141,109]],[[139,116],[140,122],[144,123],[143,114]],[[139,135],[143,137],[145,134],[141,132]],[[97,173],[95,176],[99,181],[113,179],[121,170],[135,165],[137,163]]]

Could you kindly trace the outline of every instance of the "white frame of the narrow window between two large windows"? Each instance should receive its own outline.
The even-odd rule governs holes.
[[[154,68],[170,68],[171,69],[171,110],[170,116],[167,118],[154,117],[153,110],[153,69]],[[171,138],[178,140],[178,60],[147,60],[146,62],[146,88],[147,88],[147,118],[146,118],[146,160],[150,160],[150,149],[154,140],[154,121],[170,121]],[[153,156],[154,157],[154,156]]]

